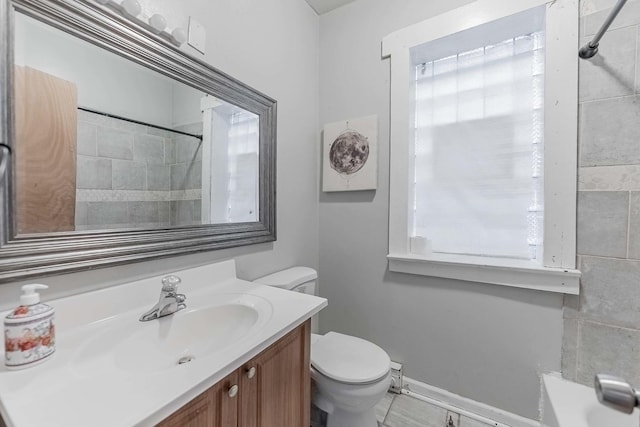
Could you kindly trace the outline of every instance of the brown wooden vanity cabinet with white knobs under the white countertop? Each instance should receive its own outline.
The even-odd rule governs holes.
[[[158,427],[308,426],[310,339],[311,324],[307,321]]]

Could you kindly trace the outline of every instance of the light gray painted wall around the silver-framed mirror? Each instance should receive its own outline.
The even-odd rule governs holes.
[[[317,267],[318,17],[301,0],[166,0],[149,7],[171,19],[196,17],[207,31],[206,56],[183,49],[278,101],[278,240],[38,278],[51,286],[44,299],[231,257],[248,279],[292,265]],[[0,310],[17,302],[23,283],[0,285]]]

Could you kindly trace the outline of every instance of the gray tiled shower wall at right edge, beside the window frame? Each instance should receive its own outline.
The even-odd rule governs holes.
[[[612,3],[612,2],[609,2]],[[609,9],[581,19],[587,42]],[[562,374],[640,384],[640,2],[629,1],[580,64],[578,254],[581,294],[564,307]]]

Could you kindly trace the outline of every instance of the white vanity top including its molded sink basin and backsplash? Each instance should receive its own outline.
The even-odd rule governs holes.
[[[163,275],[48,301],[55,354],[19,371],[0,360],[7,427],[156,425],[327,304],[238,279],[233,260],[172,273],[187,308],[148,322]]]

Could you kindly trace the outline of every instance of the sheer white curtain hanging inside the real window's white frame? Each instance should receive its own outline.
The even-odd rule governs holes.
[[[419,63],[413,236],[434,252],[541,258],[544,33]]]

